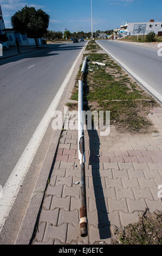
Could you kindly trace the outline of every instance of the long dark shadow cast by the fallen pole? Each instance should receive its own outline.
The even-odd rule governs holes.
[[[89,92],[89,87],[87,84],[86,76],[84,78],[84,86],[83,86],[83,101],[84,101],[84,110],[88,111],[88,100],[87,94]],[[87,124],[87,120],[86,120]],[[92,166],[92,179],[93,179],[93,187],[95,194],[95,203],[96,210],[98,212],[98,229],[100,234],[100,239],[109,239],[111,238],[111,230],[110,230],[110,222],[108,219],[108,211],[106,207],[105,197],[102,188],[101,175],[100,172],[100,138],[98,135],[98,131],[95,130],[93,119],[92,119],[92,130],[88,130],[89,137],[89,166]]]

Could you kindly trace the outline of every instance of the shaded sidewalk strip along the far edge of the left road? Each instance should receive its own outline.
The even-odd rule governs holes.
[[[39,48],[36,48],[36,46],[20,46],[20,52],[21,53],[27,53],[27,52],[31,52],[31,51],[37,51],[37,50],[40,50],[40,48],[42,47],[48,47],[48,45],[41,45]],[[14,57],[14,56],[17,56],[17,55],[21,55],[21,53],[18,53],[17,51],[17,47],[10,47],[9,50],[4,50],[3,51],[3,56],[0,57],[0,60],[1,59],[4,59],[4,58],[9,58],[9,57]]]

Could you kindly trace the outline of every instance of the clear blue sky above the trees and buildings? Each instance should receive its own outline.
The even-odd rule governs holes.
[[[6,27],[11,27],[10,17],[28,5],[50,15],[51,30],[90,31],[90,0],[0,0],[0,4]],[[93,0],[94,29],[117,28],[123,21],[162,21],[161,10],[161,0]]]

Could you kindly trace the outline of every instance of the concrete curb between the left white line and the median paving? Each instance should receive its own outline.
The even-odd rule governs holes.
[[[86,45],[85,45],[85,48],[86,48]],[[85,52],[85,49],[83,50],[77,62],[77,65],[75,67],[75,70],[73,71],[73,75],[70,78],[70,82],[69,82],[70,86],[66,87],[64,95],[62,95],[63,104],[61,106],[61,111],[63,111],[63,106],[67,102],[67,99],[70,96],[71,90],[74,87],[75,77],[79,70],[79,66],[80,66],[84,52]],[[31,237],[33,236],[34,228],[35,228],[35,225],[37,224],[37,217],[41,210],[41,205],[44,199],[44,193],[48,185],[48,178],[50,176],[51,169],[53,168],[53,163],[55,160],[55,155],[57,153],[57,145],[59,143],[61,131],[62,130],[55,131],[53,134],[53,137],[51,138],[46,157],[44,158],[43,166],[40,170],[40,174],[38,175],[36,184],[34,186],[33,192],[30,197],[28,207],[25,211],[22,223],[18,230],[16,239],[14,242],[15,245],[28,245],[30,243]]]

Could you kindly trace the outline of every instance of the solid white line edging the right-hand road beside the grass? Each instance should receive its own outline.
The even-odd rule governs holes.
[[[152,95],[154,95],[160,102],[162,102],[162,95],[160,93],[158,93],[156,90],[154,90],[152,88],[152,86],[150,86],[150,84],[146,83],[141,77],[139,77],[137,74],[134,73],[134,71],[132,71],[131,69],[129,69],[124,63],[122,63],[118,58],[116,58],[115,56],[113,56],[112,53],[108,52],[105,47],[103,47],[102,45],[100,45],[99,42],[97,42],[98,45],[104,50],[106,51],[109,56],[111,56],[114,60],[116,60],[116,62],[118,62],[125,70],[128,71],[129,74],[131,74],[140,84],[142,84],[142,86],[144,86],[148,92],[150,92]]]

